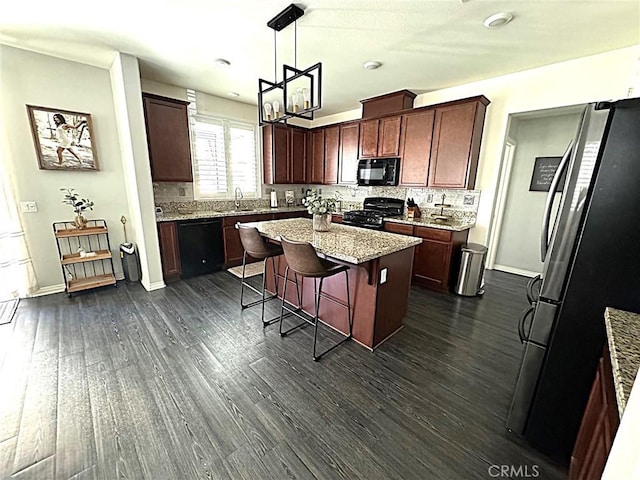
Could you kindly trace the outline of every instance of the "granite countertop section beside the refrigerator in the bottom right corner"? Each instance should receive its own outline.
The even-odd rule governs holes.
[[[618,413],[627,405],[640,368],[640,314],[607,307],[604,312]]]

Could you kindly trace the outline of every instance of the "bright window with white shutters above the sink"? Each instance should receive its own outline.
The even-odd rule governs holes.
[[[194,115],[191,132],[196,199],[230,198],[236,187],[260,196],[255,125]]]

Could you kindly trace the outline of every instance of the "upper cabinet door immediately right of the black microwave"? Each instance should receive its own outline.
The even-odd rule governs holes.
[[[433,110],[402,116],[400,185],[427,186],[434,117]]]

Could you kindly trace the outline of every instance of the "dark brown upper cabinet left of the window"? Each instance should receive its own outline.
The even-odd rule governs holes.
[[[151,178],[155,182],[192,182],[188,102],[143,94]]]

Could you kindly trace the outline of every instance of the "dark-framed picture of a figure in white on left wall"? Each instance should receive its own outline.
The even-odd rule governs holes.
[[[41,170],[99,170],[91,115],[33,105],[27,112]]]

